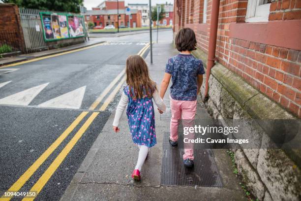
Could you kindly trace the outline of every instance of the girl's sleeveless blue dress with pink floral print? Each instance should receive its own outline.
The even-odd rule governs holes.
[[[126,115],[132,139],[135,144],[152,147],[157,143],[155,134],[154,109],[151,98],[134,100],[129,93],[129,87],[123,89],[128,96]]]

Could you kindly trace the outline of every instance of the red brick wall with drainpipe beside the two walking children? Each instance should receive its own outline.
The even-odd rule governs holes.
[[[207,23],[202,24],[204,0],[175,0],[175,32],[182,27],[193,29],[197,46],[205,53],[209,45],[211,3],[208,0]],[[219,63],[301,117],[301,38],[298,36],[301,30],[297,26],[301,23],[301,0],[273,1],[269,22],[264,27],[263,23],[245,23],[246,9],[247,0],[220,0],[215,52]],[[295,24],[288,26],[289,23]]]

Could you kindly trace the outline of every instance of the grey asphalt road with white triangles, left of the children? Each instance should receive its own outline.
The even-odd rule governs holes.
[[[161,41],[170,41],[172,32],[162,32],[161,36]],[[9,67],[16,70],[0,74],[1,195],[15,182],[24,183],[19,192],[29,192],[34,184],[42,180],[45,186],[35,200],[60,199],[115,109],[119,95],[117,93],[115,99],[110,99],[110,95],[114,97],[114,89],[122,83],[122,77],[116,77],[124,69],[126,58],[137,54],[148,42],[148,37],[148,33],[141,33],[99,38],[110,42]],[[112,88],[106,92],[105,89],[110,85]],[[105,96],[96,102],[96,107],[94,101],[101,94]],[[93,111],[106,102],[108,107],[90,121]],[[94,107],[91,108],[93,103]],[[83,112],[86,115],[74,124]],[[68,128],[72,124],[74,128]],[[67,131],[69,134],[60,143],[57,142]],[[71,139],[80,133],[82,135],[79,135],[78,141],[71,146]],[[54,144],[56,148],[52,147]],[[61,155],[66,147],[70,151],[65,156]],[[53,152],[47,156],[45,153],[49,149]],[[33,167],[41,157],[41,165]],[[62,159],[61,163],[56,161],[58,158]],[[43,173],[55,165],[58,167],[45,181]],[[22,177],[29,169],[32,175],[27,179]],[[22,200],[22,197],[12,200]]]

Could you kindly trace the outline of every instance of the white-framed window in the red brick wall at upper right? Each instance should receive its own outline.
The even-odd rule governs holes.
[[[268,22],[271,0],[248,0],[245,22]]]

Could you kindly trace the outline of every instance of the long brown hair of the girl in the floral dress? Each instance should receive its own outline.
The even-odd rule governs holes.
[[[156,84],[151,80],[148,65],[139,55],[131,55],[126,59],[126,84],[133,99],[151,98]]]

